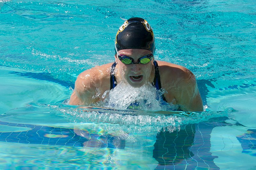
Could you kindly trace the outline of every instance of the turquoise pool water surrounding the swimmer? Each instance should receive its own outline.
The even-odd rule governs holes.
[[[204,112],[66,105],[114,61],[120,17],[148,20]],[[255,18],[254,0],[0,0],[0,169],[256,169]]]

